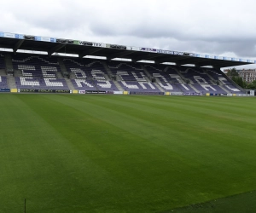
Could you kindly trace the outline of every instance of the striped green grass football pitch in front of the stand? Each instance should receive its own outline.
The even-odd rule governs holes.
[[[0,94],[0,212],[255,212],[255,106]]]

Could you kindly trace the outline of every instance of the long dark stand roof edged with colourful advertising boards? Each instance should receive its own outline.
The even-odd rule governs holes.
[[[0,48],[44,51],[49,55],[54,53],[74,54],[79,57],[95,55],[106,57],[108,60],[114,58],[139,60],[154,60],[155,63],[172,62],[177,65],[194,64],[195,66],[241,66],[255,64],[256,60],[245,60],[217,55],[201,55],[187,52],[137,48],[110,43],[94,43],[66,38],[38,37],[30,35],[0,32]]]

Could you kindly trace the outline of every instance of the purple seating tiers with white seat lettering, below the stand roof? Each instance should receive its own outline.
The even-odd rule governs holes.
[[[10,55],[17,89],[69,90],[70,82],[73,89],[92,91],[243,93],[220,70],[213,68],[56,55]],[[5,67],[4,54],[0,53],[0,70]],[[8,78],[1,73],[0,87],[9,88]]]

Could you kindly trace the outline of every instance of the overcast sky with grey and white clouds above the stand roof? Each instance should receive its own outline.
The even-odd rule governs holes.
[[[255,0],[8,0],[0,32],[256,60],[255,8]]]

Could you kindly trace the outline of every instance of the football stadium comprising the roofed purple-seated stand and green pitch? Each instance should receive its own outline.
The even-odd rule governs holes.
[[[0,212],[255,212],[256,60],[0,32]]]

